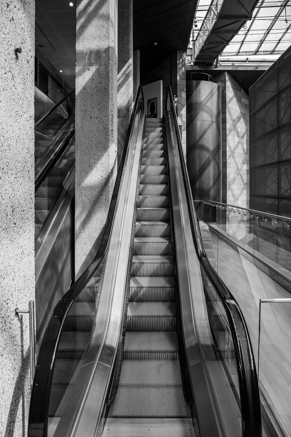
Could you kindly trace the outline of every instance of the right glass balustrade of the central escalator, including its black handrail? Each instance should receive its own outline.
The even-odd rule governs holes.
[[[181,175],[177,174],[177,179],[182,180],[185,187],[189,226],[202,275],[205,301],[200,301],[197,296],[195,305],[196,312],[199,306],[206,308],[208,317],[203,319],[201,310],[196,327],[211,391],[219,410],[224,435],[258,437],[262,435],[260,397],[250,335],[240,306],[205,255],[204,241],[202,244],[193,206],[171,87],[168,87],[166,102],[168,110],[174,114],[181,162]]]

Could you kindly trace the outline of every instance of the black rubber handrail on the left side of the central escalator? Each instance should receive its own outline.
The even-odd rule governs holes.
[[[142,109],[144,109],[144,94],[142,86],[137,90],[137,97],[134,103],[134,109],[130,118],[130,125],[127,130],[123,151],[120,157],[120,163],[117,170],[116,180],[113,188],[113,194],[110,202],[109,212],[106,219],[102,242],[98,252],[79,279],[65,293],[62,299],[56,305],[48,326],[45,329],[45,334],[41,342],[41,347],[38,354],[38,361],[35,368],[34,382],[31,389],[31,402],[28,416],[28,437],[47,437],[48,430],[48,409],[50,401],[51,383],[54,373],[55,358],[58,350],[60,334],[64,326],[66,316],[72,307],[72,304],[78,298],[86,284],[93,276],[94,272],[102,263],[106,250],[109,244],[113,218],[115,215],[120,181],[123,173],[127,148],[130,140],[131,131],[134,125],[134,118],[137,113],[137,105],[139,98],[142,98]]]

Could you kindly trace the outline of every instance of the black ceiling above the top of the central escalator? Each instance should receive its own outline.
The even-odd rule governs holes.
[[[134,50],[140,50],[140,76],[175,50],[187,51],[197,3],[198,0],[134,0]]]

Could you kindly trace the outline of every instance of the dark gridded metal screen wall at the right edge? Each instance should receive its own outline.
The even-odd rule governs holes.
[[[291,217],[291,48],[249,97],[250,208]]]

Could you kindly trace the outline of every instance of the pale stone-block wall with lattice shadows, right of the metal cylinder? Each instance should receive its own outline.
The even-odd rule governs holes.
[[[222,201],[249,207],[249,97],[226,72],[213,82],[221,86]]]

